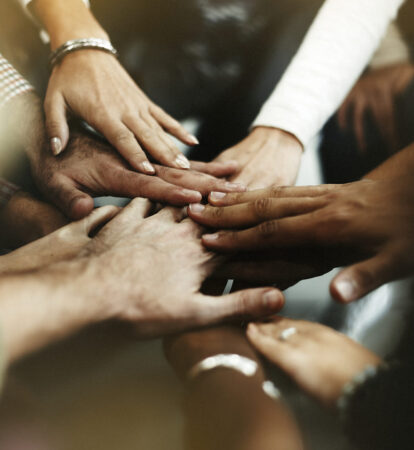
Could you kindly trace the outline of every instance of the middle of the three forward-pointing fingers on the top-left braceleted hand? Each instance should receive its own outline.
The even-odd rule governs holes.
[[[159,163],[177,169],[190,168],[190,161],[151,116],[142,116],[141,120],[127,118],[124,123],[134,132],[145,150]]]

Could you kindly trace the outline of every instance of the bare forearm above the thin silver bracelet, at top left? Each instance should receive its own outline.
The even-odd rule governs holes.
[[[29,8],[48,32],[52,50],[72,39],[108,39],[82,0],[33,0]]]

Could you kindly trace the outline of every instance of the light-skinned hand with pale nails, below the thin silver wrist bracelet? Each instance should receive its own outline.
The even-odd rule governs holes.
[[[155,173],[145,151],[163,165],[190,168],[166,132],[188,145],[196,145],[197,139],[149,100],[112,55],[82,50],[67,55],[53,69],[45,113],[55,155],[69,140],[68,111],[101,132],[139,172]]]

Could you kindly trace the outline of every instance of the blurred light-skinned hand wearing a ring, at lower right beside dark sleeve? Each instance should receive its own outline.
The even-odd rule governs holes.
[[[280,340],[283,330],[296,333]],[[380,358],[347,336],[323,325],[276,318],[250,324],[247,337],[266,358],[284,370],[308,394],[334,407],[344,385]]]

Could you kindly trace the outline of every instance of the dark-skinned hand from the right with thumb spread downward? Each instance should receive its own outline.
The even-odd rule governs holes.
[[[346,185],[279,187],[226,195],[214,199],[221,207],[193,205],[189,214],[214,228],[248,228],[203,236],[204,245],[211,250],[318,246],[333,258],[342,258],[342,250],[348,249],[353,255],[350,262],[355,264],[333,279],[331,294],[339,301],[351,302],[414,272],[413,192],[410,174]]]

